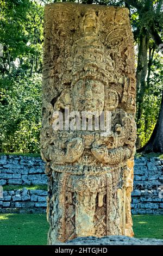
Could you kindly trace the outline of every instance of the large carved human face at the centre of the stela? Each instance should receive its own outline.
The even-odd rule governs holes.
[[[97,80],[79,80],[72,94],[75,111],[99,111],[104,108],[104,84]]]

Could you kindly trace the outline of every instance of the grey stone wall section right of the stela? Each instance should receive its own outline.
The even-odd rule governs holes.
[[[131,195],[132,214],[163,214],[163,160],[158,157],[135,159]]]

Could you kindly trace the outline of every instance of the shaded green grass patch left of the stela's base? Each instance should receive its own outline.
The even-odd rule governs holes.
[[[1,214],[0,245],[46,245],[45,214]]]

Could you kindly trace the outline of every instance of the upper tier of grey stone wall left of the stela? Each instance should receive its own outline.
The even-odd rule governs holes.
[[[46,185],[47,175],[40,157],[1,156],[0,185]]]

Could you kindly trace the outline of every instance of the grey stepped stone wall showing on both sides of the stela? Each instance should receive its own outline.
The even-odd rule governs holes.
[[[40,157],[1,156],[0,185],[46,185],[44,163]],[[135,159],[133,214],[163,214],[163,160],[152,157]],[[46,190],[4,191],[0,212],[43,213],[46,211]]]

